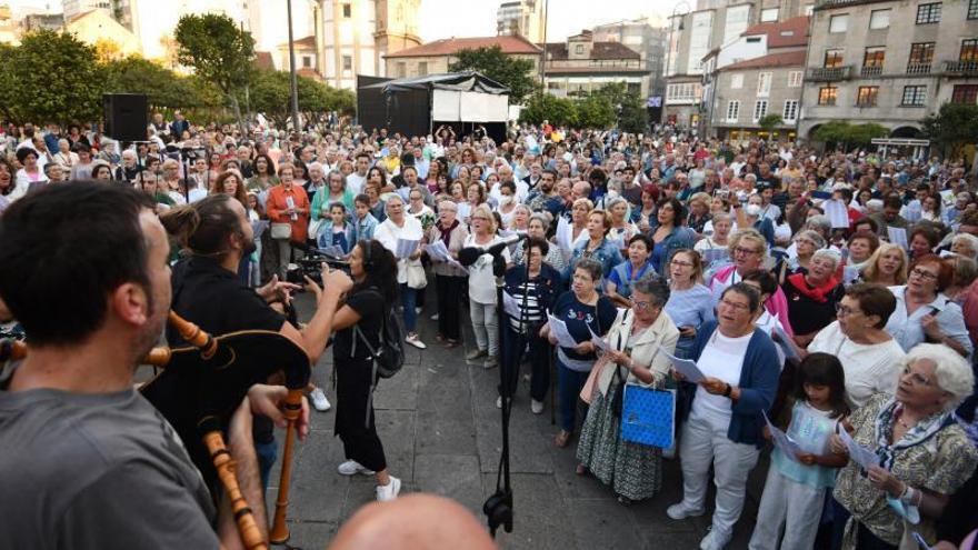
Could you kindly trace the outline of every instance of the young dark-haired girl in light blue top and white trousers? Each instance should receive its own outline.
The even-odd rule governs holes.
[[[785,538],[780,548],[815,544],[826,490],[831,490],[836,469],[847,460],[828,450],[829,437],[849,413],[845,382],[842,363],[835,356],[811,353],[798,367],[787,434],[800,451],[788,457],[775,448],[771,453],[750,550],[779,548],[781,526]],[[768,428],[765,436],[770,437]]]

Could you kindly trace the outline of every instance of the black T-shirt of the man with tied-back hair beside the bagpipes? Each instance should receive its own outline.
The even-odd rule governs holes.
[[[178,316],[213,336],[239,330],[282,329],[286,318],[238,279],[238,273],[222,268],[210,258],[190,258],[173,267],[171,309]],[[187,346],[180,333],[167,326],[167,342],[172,348]],[[272,423],[255,417],[255,440],[272,440]]]

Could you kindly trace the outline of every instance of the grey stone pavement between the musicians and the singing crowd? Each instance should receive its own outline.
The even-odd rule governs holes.
[[[467,364],[461,347],[446,350],[435,343],[437,326],[429,320],[433,294],[429,289],[428,307],[419,316],[419,333],[428,349],[406,344],[403,371],[382,381],[377,390],[377,426],[390,472],[403,482],[401,494],[423,491],[449,497],[485,523],[482,503],[496,490],[501,449],[500,411],[495,406],[499,370],[483,370],[481,362]],[[297,302],[300,319],[308,319],[308,297]],[[473,341],[470,328],[466,334]],[[313,378],[336,403],[331,372],[332,358],[326,353]],[[499,530],[500,548],[699,548],[709,516],[685,521],[666,516],[666,508],[681,498],[678,461],[666,461],[659,496],[623,507],[596,479],[575,476],[573,442],[566,449],[551,443],[557,428],[550,424],[549,398],[543,414],[536,416],[530,412],[528,393],[529,383],[520,380],[510,430],[513,532]],[[373,500],[372,477],[337,473],[336,467],[345,457],[342,443],[333,438],[333,422],[332,410],[312,411],[311,433],[305,443],[297,443],[288,514],[292,547],[326,548],[339,527]],[[277,438],[281,442],[280,432]],[[747,548],[764,472],[758,467],[752,473],[750,496],[728,549]],[[271,479],[277,486],[278,468]],[[270,488],[269,513],[276,494],[277,488]]]

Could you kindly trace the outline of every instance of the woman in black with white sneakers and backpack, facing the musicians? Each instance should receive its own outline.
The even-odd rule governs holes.
[[[377,500],[393,500],[401,481],[388,473],[383,446],[377,436],[370,348],[380,349],[380,330],[388,308],[399,303],[397,260],[379,241],[360,241],[350,254],[350,276],[353,288],[333,318],[336,434],[343,441],[347,457],[338,471],[343,476],[376,476]]]

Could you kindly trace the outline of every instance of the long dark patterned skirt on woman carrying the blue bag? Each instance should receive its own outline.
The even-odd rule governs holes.
[[[619,384],[617,378],[611,379],[609,397]],[[581,428],[577,460],[616,494],[630,500],[651,498],[662,487],[661,450],[622,441],[619,426],[611,400],[596,390]]]

